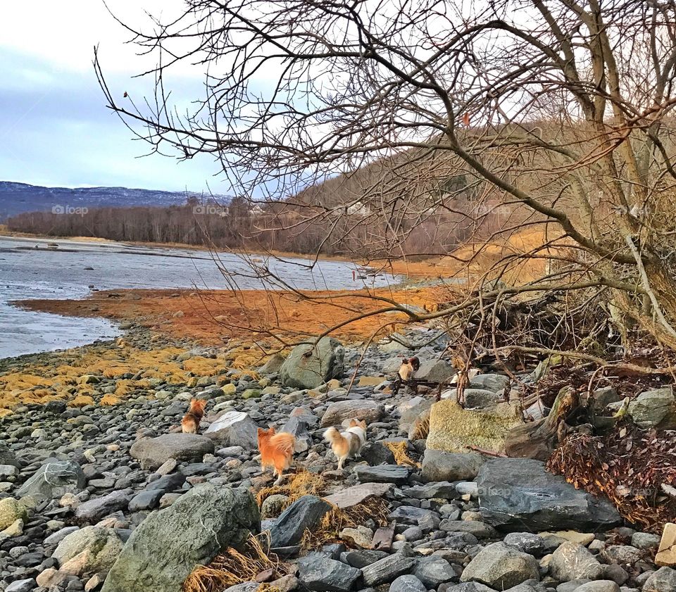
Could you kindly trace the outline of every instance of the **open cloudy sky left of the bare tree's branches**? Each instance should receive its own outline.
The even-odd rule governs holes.
[[[144,9],[170,16],[182,0],[109,0],[125,23],[149,22]],[[173,12],[172,12],[173,11]],[[226,193],[211,156],[186,162],[158,155],[106,109],[92,60],[99,46],[108,87],[135,102],[153,80],[133,78],[154,63],[126,43],[131,35],[103,0],[0,3],[0,181],[48,187],[123,186]],[[177,96],[200,96],[202,73],[181,66],[170,80]]]

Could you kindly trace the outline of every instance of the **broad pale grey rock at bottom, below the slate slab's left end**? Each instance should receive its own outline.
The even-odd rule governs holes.
[[[505,543],[493,543],[480,550],[465,567],[461,581],[478,581],[505,590],[528,579],[540,579],[537,560]]]

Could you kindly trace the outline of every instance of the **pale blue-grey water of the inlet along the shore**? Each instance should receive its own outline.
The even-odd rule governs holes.
[[[58,244],[58,248],[49,244]],[[393,279],[359,275],[351,263],[322,261],[313,270],[308,263],[259,256],[246,263],[232,253],[212,256],[181,248],[0,237],[0,358],[81,346],[120,334],[108,320],[37,313],[13,306],[11,301],[84,298],[91,291],[89,286],[100,290],[263,289],[266,284],[287,284],[301,290],[344,290],[386,286]],[[270,277],[268,270],[282,282]],[[353,280],[353,271],[362,279]]]

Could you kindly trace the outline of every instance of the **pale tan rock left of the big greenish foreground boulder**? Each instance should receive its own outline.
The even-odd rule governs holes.
[[[120,555],[122,547],[123,543],[113,529],[84,527],[65,536],[51,556],[63,567],[70,560],[82,555],[81,567],[75,575],[92,575],[96,572],[108,572]]]

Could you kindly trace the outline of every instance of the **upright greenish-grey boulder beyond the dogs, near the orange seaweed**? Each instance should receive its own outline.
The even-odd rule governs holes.
[[[284,386],[295,389],[315,389],[344,370],[345,349],[337,339],[322,337],[316,344],[301,344],[293,348],[280,368]]]

